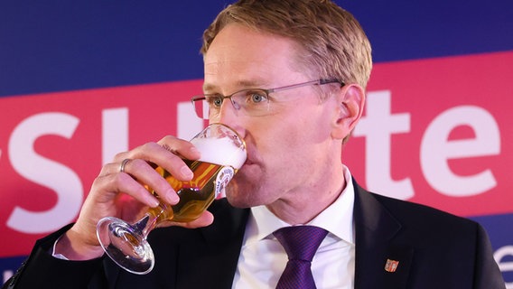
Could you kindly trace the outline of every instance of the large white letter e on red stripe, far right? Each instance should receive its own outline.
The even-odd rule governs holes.
[[[457,126],[471,126],[475,138],[449,141]],[[499,126],[488,111],[481,107],[452,107],[434,118],[427,127],[420,148],[420,163],[427,182],[445,195],[464,197],[480,194],[497,185],[487,169],[462,176],[451,171],[447,160],[500,153]]]

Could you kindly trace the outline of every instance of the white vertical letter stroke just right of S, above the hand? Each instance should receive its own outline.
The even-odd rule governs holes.
[[[105,109],[101,117],[101,161],[105,164],[128,150],[128,108]]]

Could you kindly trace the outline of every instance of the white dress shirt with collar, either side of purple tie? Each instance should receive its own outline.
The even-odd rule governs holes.
[[[344,177],[347,183],[339,198],[315,219],[304,224],[329,232],[312,260],[313,279],[319,289],[354,287],[354,187],[350,171],[345,166]],[[233,288],[276,287],[288,257],[273,232],[288,226],[265,206],[251,208]]]

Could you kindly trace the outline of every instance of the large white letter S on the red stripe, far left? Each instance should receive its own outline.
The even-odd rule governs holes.
[[[27,234],[45,233],[61,228],[76,217],[83,196],[79,175],[61,163],[36,154],[33,144],[42,135],[70,138],[78,125],[77,117],[42,113],[26,118],[14,128],[8,149],[14,171],[55,191],[57,203],[51,210],[41,212],[14,208],[7,220],[9,228]]]

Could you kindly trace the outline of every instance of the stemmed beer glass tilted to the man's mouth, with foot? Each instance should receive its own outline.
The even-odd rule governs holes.
[[[135,224],[114,217],[106,217],[98,222],[97,237],[101,247],[107,256],[128,272],[144,275],[153,269],[154,252],[146,237],[158,223],[163,220],[187,222],[200,217],[246,162],[246,144],[229,126],[207,126],[191,139],[191,143],[201,152],[198,161],[184,160],[194,172],[191,181],[178,181],[162,167],[155,169],[180,196],[176,205],[161,200],[157,207],[150,208]],[[154,193],[151,188],[145,187]]]

